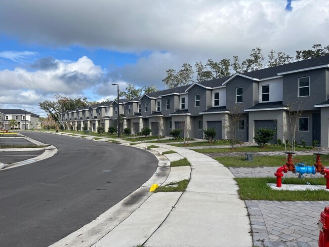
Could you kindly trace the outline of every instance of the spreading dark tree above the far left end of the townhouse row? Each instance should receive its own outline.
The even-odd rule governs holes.
[[[51,115],[55,121],[59,121],[59,114],[61,112],[88,106],[88,101],[87,98],[71,99],[57,94],[55,95],[55,101],[45,100],[39,102],[38,106]]]

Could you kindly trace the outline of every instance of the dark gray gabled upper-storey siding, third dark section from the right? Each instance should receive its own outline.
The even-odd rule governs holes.
[[[200,106],[195,107],[195,95],[200,95]],[[194,86],[188,91],[188,111],[192,116],[199,115],[200,111],[207,110],[207,90],[200,86]]]

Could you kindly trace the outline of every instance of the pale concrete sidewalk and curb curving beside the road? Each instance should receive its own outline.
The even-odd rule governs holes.
[[[144,192],[133,193],[51,246],[252,246],[248,211],[238,197],[233,174],[207,155],[156,145],[159,148],[150,151],[158,158],[158,169],[140,188]],[[177,153],[161,155],[169,150]],[[170,161],[184,157],[191,167],[170,167]],[[153,183],[165,185],[186,178],[190,183],[185,192],[146,192]]]

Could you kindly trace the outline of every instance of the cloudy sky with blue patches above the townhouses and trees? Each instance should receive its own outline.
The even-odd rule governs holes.
[[[38,102],[56,94],[164,89],[183,63],[327,46],[328,26],[327,0],[2,0],[0,108],[45,116]]]

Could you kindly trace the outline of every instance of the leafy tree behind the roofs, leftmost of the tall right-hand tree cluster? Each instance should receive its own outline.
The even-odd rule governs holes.
[[[184,63],[182,69],[176,72],[174,69],[166,70],[167,77],[163,79],[167,89],[177,88],[193,83],[193,68],[189,63]]]

